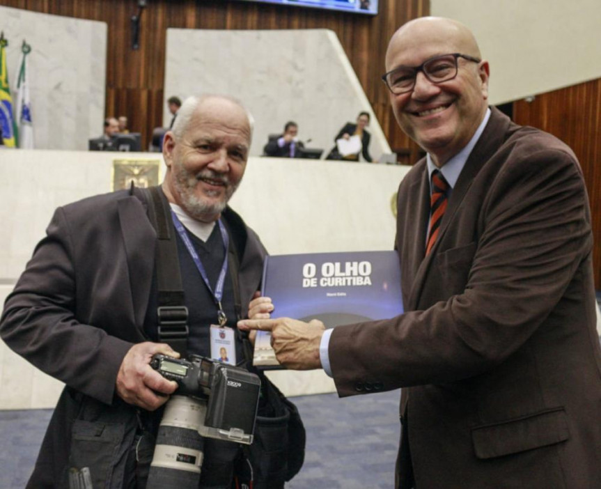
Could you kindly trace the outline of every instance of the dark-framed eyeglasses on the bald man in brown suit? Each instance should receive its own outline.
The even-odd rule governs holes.
[[[472,56],[467,56],[467,54],[443,54],[442,56],[427,59],[419,66],[399,66],[387,72],[386,75],[382,75],[382,80],[394,95],[412,91],[415,86],[417,73],[420,71],[432,83],[439,84],[443,81],[452,80],[457,76],[458,58],[474,61],[474,63],[480,63],[481,61]]]

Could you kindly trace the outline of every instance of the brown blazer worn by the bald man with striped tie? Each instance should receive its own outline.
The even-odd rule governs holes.
[[[397,487],[601,488],[591,218],[575,155],[492,109],[425,258],[428,199],[421,160],[398,190],[406,313],[334,329],[338,394],[403,387]]]

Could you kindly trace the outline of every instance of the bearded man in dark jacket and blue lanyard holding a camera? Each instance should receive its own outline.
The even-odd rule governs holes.
[[[240,102],[189,98],[165,134],[167,171],[154,190],[171,208],[187,352],[214,357],[210,329],[219,325],[229,334],[231,364],[244,362],[248,342],[236,322],[247,316],[265,256],[256,233],[227,207],[247,166],[251,133]],[[144,486],[153,451],[148,433],[156,433],[159,408],[177,388],[150,359],[178,356],[160,342],[158,240],[149,208],[139,189],[58,208],[6,300],[3,340],[66,385],[28,487],[68,487],[69,472],[82,467],[95,488]],[[199,487],[232,487],[240,446],[205,440],[203,451]]]

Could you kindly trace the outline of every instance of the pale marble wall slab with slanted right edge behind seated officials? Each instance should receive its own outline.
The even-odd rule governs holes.
[[[251,155],[267,134],[299,125],[306,146],[325,149],[360,111],[371,114],[370,154],[390,153],[369,101],[333,31],[211,31],[167,29],[165,98],[225,93],[240,99],[256,125]],[[164,113],[164,125],[171,114]]]

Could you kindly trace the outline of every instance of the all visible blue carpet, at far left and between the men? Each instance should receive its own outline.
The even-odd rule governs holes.
[[[305,463],[287,489],[389,489],[399,437],[399,391],[292,398],[307,432]],[[52,410],[0,411],[0,489],[22,489]]]

